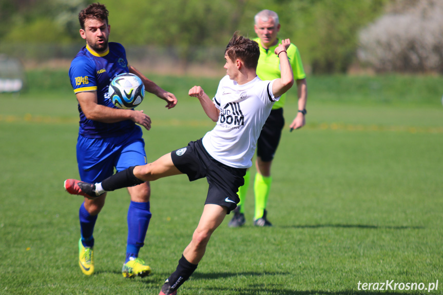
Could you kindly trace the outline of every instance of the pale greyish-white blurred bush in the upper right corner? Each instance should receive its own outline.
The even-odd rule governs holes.
[[[443,73],[443,2],[401,1],[360,32],[358,56],[378,72]]]

